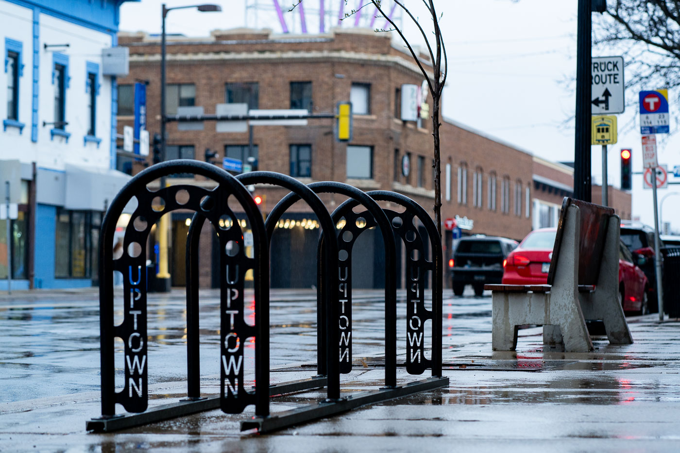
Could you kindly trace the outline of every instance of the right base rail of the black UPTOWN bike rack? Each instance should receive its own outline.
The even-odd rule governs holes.
[[[378,390],[355,393],[345,398],[341,398],[339,401],[320,401],[316,404],[291,409],[267,417],[254,416],[252,420],[241,422],[241,431],[257,429],[260,434],[271,433],[296,424],[303,424],[311,422],[312,420],[319,420],[320,418],[342,414],[343,412],[348,412],[363,405],[406,397],[408,395],[413,395],[414,393],[447,387],[448,385],[448,377],[428,377],[427,379],[409,382],[408,384],[396,386],[395,388],[379,388]]]

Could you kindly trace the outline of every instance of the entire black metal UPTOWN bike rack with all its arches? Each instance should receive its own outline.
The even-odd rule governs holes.
[[[194,173],[218,183],[213,190],[198,186],[180,185],[151,191],[147,185],[173,173]],[[243,184],[275,184],[292,192],[280,201],[265,222],[252,196]],[[331,216],[319,199],[318,193],[335,193],[350,199]],[[255,416],[241,422],[241,431],[258,429],[267,433],[294,424],[347,412],[350,409],[411,395],[415,392],[446,386],[448,378],[441,376],[441,244],[429,216],[422,207],[403,195],[393,192],[369,192],[338,182],[317,182],[305,186],[294,178],[279,173],[257,171],[234,178],[214,165],[199,161],[175,160],[154,165],[130,180],[114,199],[103,220],[100,243],[100,318],[101,318],[101,395],[102,415],[86,424],[92,431],[115,431],[167,418],[184,416],[220,407],[222,412],[239,414],[248,405],[255,405]],[[233,196],[245,212],[254,236],[253,258],[245,255],[243,231],[229,208],[228,198]],[[403,214],[381,209],[377,200],[392,201],[407,208]],[[137,199],[137,208],[124,235],[124,254],[114,260],[111,244],[116,220],[131,199]],[[158,200],[165,203],[159,203]],[[282,214],[296,201],[305,200],[318,216],[322,226],[318,254],[318,374],[306,380],[269,385],[269,245],[275,226]],[[367,220],[365,228],[380,229],[386,254],[385,275],[385,382],[378,390],[341,397],[340,374],[351,369],[351,250],[361,231],[335,228],[335,218],[352,216],[352,208],[363,205]],[[146,345],[146,241],[151,225],[160,216],[173,209],[191,209],[194,214],[187,237],[187,397],[177,403],[148,408],[147,345]],[[350,214],[352,213],[352,214]],[[409,239],[394,226],[394,218],[401,215],[404,224],[413,224],[419,218],[425,225],[432,243],[432,262],[407,260],[409,289],[409,320],[420,321],[418,326],[407,325],[407,336],[414,340],[408,349],[407,371],[422,374],[432,369],[432,377],[398,386],[396,384],[396,243],[395,235],[407,243],[407,250],[424,251],[419,239]],[[199,363],[199,296],[198,296],[198,243],[205,220],[211,222],[220,241],[220,397],[202,398],[200,392]],[[222,222],[220,222],[222,220]],[[225,221],[226,220],[226,221]],[[231,220],[231,221],[229,221]],[[429,223],[428,223],[429,222]],[[350,222],[347,222],[349,224]],[[356,223],[355,223],[356,226]],[[358,227],[357,227],[358,228]],[[354,240],[342,235],[353,231]],[[411,229],[408,229],[409,231]],[[363,230],[362,230],[363,231]],[[356,234],[355,234],[356,233]],[[345,236],[346,237],[346,236]],[[420,235],[418,235],[420,237]],[[436,239],[436,240],[435,240]],[[227,246],[231,242],[231,246]],[[135,245],[136,244],[136,245]],[[409,245],[410,244],[410,245]],[[410,247],[410,249],[409,249]],[[345,252],[345,253],[343,253]],[[424,256],[421,252],[420,256]],[[338,268],[336,274],[335,267]],[[245,272],[254,273],[255,324],[250,326],[243,318],[243,289]],[[343,270],[345,271],[343,278]],[[122,271],[124,279],[124,321],[113,324],[113,271]],[[432,271],[432,309],[426,310],[422,299],[422,284],[426,271]],[[432,358],[424,358],[422,324],[432,320]],[[415,327],[413,327],[415,326]],[[410,329],[410,330],[409,330]],[[341,331],[347,335],[341,337]],[[124,342],[124,389],[116,392],[114,383],[114,339]],[[243,352],[248,339],[255,340],[254,390],[244,385]],[[336,348],[335,345],[339,345]],[[344,348],[344,349],[343,349]],[[407,348],[409,346],[407,345]],[[418,358],[418,360],[415,360]],[[422,358],[422,360],[420,360]],[[327,397],[316,404],[305,405],[290,411],[270,414],[269,397],[286,392],[309,390],[326,385]],[[135,414],[116,414],[120,403]]]

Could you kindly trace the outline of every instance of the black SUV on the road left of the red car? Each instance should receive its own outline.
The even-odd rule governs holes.
[[[465,285],[472,285],[481,296],[484,284],[500,283],[503,262],[519,242],[496,236],[469,236],[458,241],[449,260],[454,295],[461,296]]]

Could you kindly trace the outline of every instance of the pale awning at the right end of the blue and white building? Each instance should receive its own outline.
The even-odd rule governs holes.
[[[105,211],[131,176],[122,171],[66,165],[66,209]]]

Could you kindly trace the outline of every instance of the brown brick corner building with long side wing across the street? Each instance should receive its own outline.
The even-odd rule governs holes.
[[[158,38],[121,33],[119,44],[129,46],[131,64],[130,74],[120,78],[118,84],[148,81],[147,129],[153,136],[160,129]],[[432,212],[435,191],[430,120],[422,120],[419,127],[395,118],[401,108],[396,105],[396,90],[403,84],[420,86],[423,78],[411,55],[392,45],[388,35],[337,31],[316,37],[276,37],[267,31],[214,31],[206,39],[170,37],[167,54],[167,83],[194,84],[194,105],[203,106],[205,114],[215,113],[216,104],[225,103],[227,83],[257,82],[258,108],[288,109],[290,82],[311,82],[312,113],[333,112],[338,102],[350,99],[353,83],[370,84],[370,112],[354,116],[350,144],[335,141],[330,119],[309,120],[307,127],[253,127],[259,169],[289,173],[290,146],[309,144],[311,178],[300,178],[303,182],[332,180],[362,190],[395,190]],[[426,101],[431,106],[431,98]],[[133,120],[118,119],[119,131]],[[203,131],[177,131],[177,123],[172,122],[167,131],[169,146],[194,146],[194,157],[201,160],[205,148],[216,150],[221,161],[224,146],[248,144],[248,133],[216,133],[214,122],[205,122]],[[471,220],[473,228],[465,233],[521,240],[532,229],[532,155],[454,122],[443,121],[440,131],[442,218]],[[348,145],[373,149],[372,178],[347,178]],[[401,173],[401,159],[406,153],[411,156],[409,178]],[[143,165],[137,163],[133,172],[141,168]],[[419,173],[422,178],[418,178]],[[566,175],[564,178],[568,179]],[[286,195],[285,190],[271,186],[258,187],[256,192],[266,195],[266,210]],[[343,201],[343,197],[333,195],[322,199],[329,209]],[[301,203],[291,210],[309,212]],[[449,237],[446,239],[445,244],[450,244]]]

